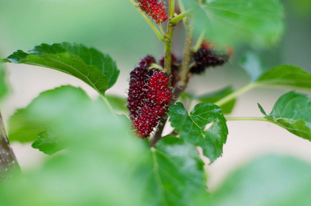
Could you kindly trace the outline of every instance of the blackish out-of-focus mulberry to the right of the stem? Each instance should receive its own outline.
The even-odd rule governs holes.
[[[212,49],[203,43],[198,52],[192,56],[194,66],[190,69],[191,73],[203,73],[208,67],[221,66],[229,60],[229,54]]]

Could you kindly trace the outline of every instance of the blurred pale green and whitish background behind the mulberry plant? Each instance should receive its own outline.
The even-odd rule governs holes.
[[[241,56],[250,50],[260,54],[266,69],[277,65],[294,65],[311,73],[311,1],[283,0],[286,32],[275,47],[257,50],[247,45],[235,48],[231,62],[221,68],[209,69],[203,76],[194,76],[187,91],[198,95],[232,85],[235,89],[249,82],[239,66]],[[183,53],[185,38],[182,26],[175,30],[173,51]],[[4,58],[17,49],[27,51],[41,43],[63,41],[82,43],[110,54],[121,70],[119,80],[108,93],[126,98],[129,72],[139,58],[152,54],[163,56],[163,43],[157,39],[137,10],[127,0],[0,0],[0,56]],[[8,94],[0,104],[3,118],[8,121],[16,108],[27,106],[38,93],[71,84],[82,87],[96,98],[97,94],[84,82],[65,73],[43,67],[5,64],[10,84]],[[240,96],[230,115],[232,117],[262,116],[259,102],[270,112],[280,95],[289,89],[254,89]],[[310,91],[297,89],[299,92]],[[78,102],[77,102],[78,104]],[[7,124],[8,125],[8,124]],[[228,122],[229,136],[224,153],[212,165],[207,165],[211,189],[224,176],[247,161],[266,154],[277,153],[305,159],[311,163],[311,143],[286,130],[266,122]],[[170,128],[166,128],[170,130]],[[23,170],[40,166],[46,158],[30,144],[12,143]],[[208,163],[208,160],[207,160]]]

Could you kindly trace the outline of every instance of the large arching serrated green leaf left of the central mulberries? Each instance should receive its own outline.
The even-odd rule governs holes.
[[[18,50],[7,59],[13,63],[36,65],[68,73],[86,82],[102,95],[115,84],[119,76],[119,70],[111,56],[76,43],[42,44],[28,53]]]

